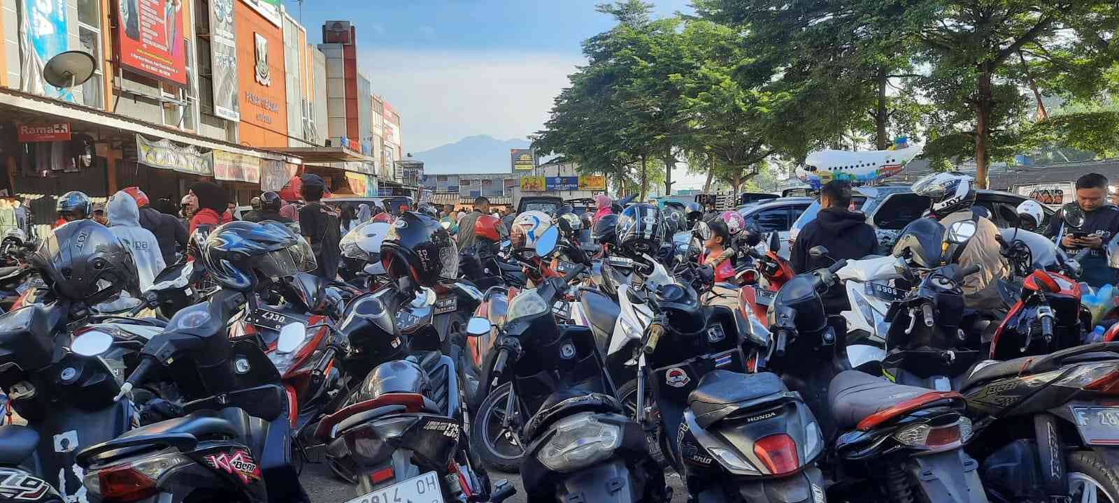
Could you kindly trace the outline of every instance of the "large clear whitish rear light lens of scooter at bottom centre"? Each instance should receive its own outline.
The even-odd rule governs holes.
[[[570,473],[613,455],[622,443],[618,425],[600,421],[593,412],[583,412],[556,423],[555,435],[537,458],[553,472]]]

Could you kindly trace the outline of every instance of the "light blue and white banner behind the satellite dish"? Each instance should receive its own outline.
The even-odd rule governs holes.
[[[23,82],[20,91],[73,102],[74,93],[70,93],[69,89],[59,89],[43,79],[43,66],[58,53],[66,50],[66,2],[63,0],[26,0],[23,16],[32,20],[31,22],[25,21],[23,25],[26,26],[26,41],[30,42],[32,50],[28,55],[31,60],[27,61],[23,67]],[[15,28],[12,27],[12,29]],[[23,30],[25,28],[21,27],[20,31]],[[27,68],[27,64],[32,65],[32,67]]]

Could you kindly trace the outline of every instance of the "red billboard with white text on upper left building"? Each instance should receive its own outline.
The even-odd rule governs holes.
[[[187,85],[182,0],[120,0],[116,47],[121,65],[157,79]]]

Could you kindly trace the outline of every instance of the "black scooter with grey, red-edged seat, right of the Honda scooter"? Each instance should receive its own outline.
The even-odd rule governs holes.
[[[816,247],[811,254],[827,250]],[[769,358],[759,366],[803,393],[825,437],[836,438],[822,465],[828,495],[986,502],[978,464],[963,452],[974,430],[960,393],[850,370],[843,317],[827,316],[820,300],[846,263],[798,275],[781,287],[768,313]]]

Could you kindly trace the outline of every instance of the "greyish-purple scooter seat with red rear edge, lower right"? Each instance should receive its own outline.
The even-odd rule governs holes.
[[[944,399],[962,401],[963,397],[953,391],[895,385],[857,370],[839,372],[828,386],[828,406],[840,429],[855,428],[864,419],[886,409],[893,408],[896,416]]]

